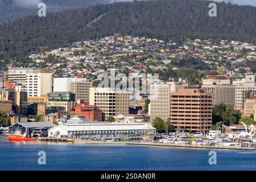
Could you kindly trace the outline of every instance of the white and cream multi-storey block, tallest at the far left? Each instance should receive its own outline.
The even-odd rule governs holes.
[[[28,97],[46,96],[52,92],[51,69],[11,68],[8,77],[14,81],[15,90],[25,90]]]

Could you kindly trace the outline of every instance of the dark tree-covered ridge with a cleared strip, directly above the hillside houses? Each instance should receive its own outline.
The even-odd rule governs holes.
[[[224,38],[256,44],[256,7],[208,1],[157,0],[119,2],[46,17],[28,16],[0,24],[0,56],[21,57],[68,43],[115,32],[156,38]],[[0,57],[1,59],[1,57]]]

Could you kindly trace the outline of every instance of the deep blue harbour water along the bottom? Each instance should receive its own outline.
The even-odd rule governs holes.
[[[46,152],[46,165],[38,152]],[[0,142],[0,170],[255,170],[256,151],[209,150],[53,142]]]

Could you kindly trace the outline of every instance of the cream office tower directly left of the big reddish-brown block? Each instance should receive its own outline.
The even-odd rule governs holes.
[[[150,121],[154,121],[156,117],[162,118],[164,121],[170,117],[170,93],[181,88],[176,82],[167,82],[166,84],[150,85]]]

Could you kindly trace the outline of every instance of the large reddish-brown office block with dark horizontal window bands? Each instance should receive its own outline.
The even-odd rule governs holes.
[[[205,89],[178,89],[170,97],[170,119],[175,130],[209,132],[212,126],[212,93]]]

